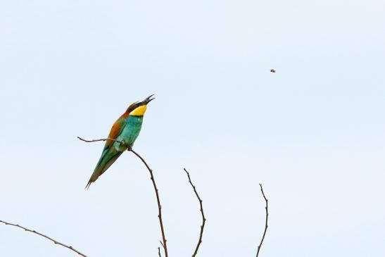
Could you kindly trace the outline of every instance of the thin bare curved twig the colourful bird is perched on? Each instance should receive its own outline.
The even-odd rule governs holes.
[[[115,142],[119,142],[121,144],[125,144],[122,141],[119,141],[119,140],[116,140],[116,139],[111,139],[111,138],[94,139],[94,140],[86,140],[86,139],[82,139],[81,137],[77,137],[77,138],[82,140],[82,141],[84,141],[84,142],[87,142],[87,143],[113,140]],[[158,203],[158,218],[159,218],[159,224],[160,224],[160,232],[162,234],[162,240],[163,240],[163,242],[160,242],[160,244],[162,244],[163,249],[165,250],[165,257],[168,257],[167,240],[165,238],[165,230],[163,228],[163,220],[162,220],[162,206],[160,205],[160,198],[159,198],[159,194],[158,194],[158,188],[156,187],[156,182],[155,182],[155,179],[153,177],[153,170],[151,170],[149,165],[146,163],[146,161],[144,161],[144,158],[142,158],[139,155],[139,153],[137,153],[136,151],[132,150],[132,148],[128,148],[127,151],[132,151],[132,153],[134,153],[134,155],[136,155],[141,160],[141,162],[144,163],[144,165],[146,165],[147,170],[149,170],[149,172],[150,172],[151,181],[153,182],[153,189],[155,190],[155,194],[156,194],[156,201]],[[160,253],[160,251],[158,253]]]

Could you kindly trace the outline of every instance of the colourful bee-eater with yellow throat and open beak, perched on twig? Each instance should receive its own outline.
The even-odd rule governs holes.
[[[108,138],[118,140],[119,142],[113,140],[106,141],[99,162],[96,164],[94,173],[89,178],[86,189],[118,159],[123,151],[131,149],[141,130],[141,123],[143,123],[147,104],[153,100],[152,96],[153,94],[143,101],[131,104],[127,111],[113,123]],[[124,142],[124,144],[121,142]]]

